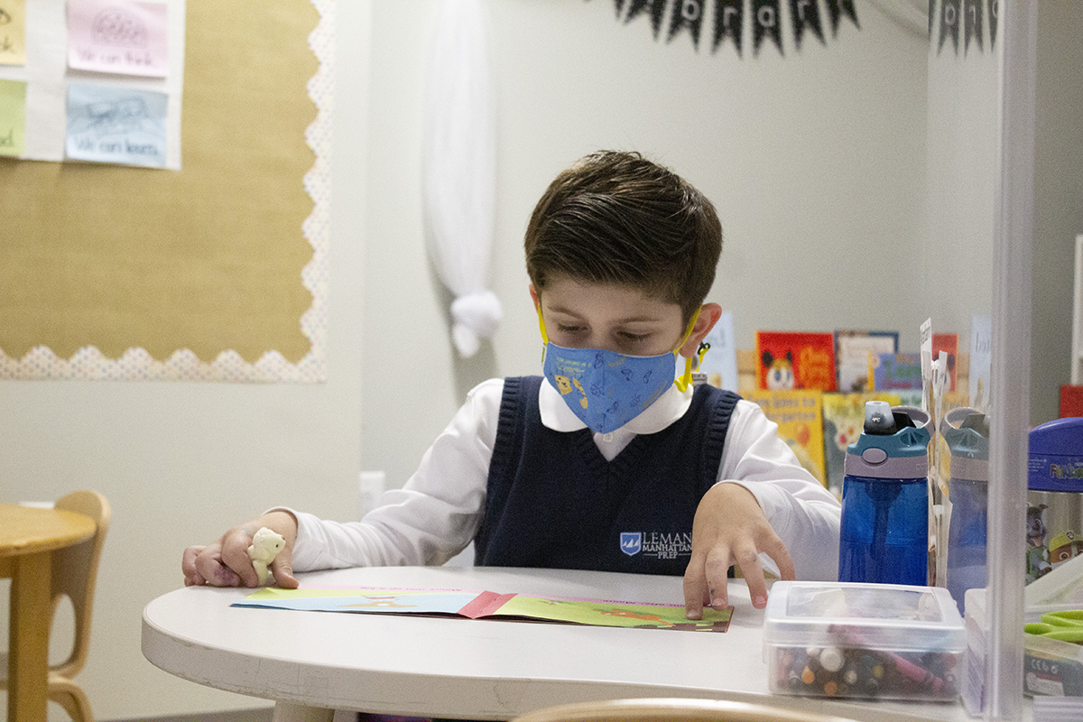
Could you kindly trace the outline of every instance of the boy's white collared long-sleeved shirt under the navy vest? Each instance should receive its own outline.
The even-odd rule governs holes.
[[[485,509],[503,392],[503,379],[475,386],[405,486],[386,491],[380,506],[362,521],[331,522],[289,510],[298,520],[293,570],[443,564],[466,548]],[[637,434],[662,431],[683,416],[691,403],[691,388],[681,392],[670,386],[624,426],[595,433],[595,444],[612,460]],[[538,406],[542,423],[553,431],[586,428],[545,380]],[[718,481],[741,484],[753,493],[786,546],[798,579],[837,579],[838,501],[801,468],[779,438],[778,425],[758,404],[738,402]],[[766,555],[761,561],[765,568],[778,572]]]

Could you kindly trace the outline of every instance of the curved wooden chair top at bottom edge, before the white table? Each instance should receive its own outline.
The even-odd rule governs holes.
[[[727,699],[612,699],[560,705],[517,717],[512,722],[852,722]]]

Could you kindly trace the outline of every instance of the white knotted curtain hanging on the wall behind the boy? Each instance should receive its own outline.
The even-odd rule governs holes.
[[[481,0],[440,0],[425,119],[423,207],[429,254],[454,293],[452,339],[473,356],[500,324],[486,283],[496,134]]]

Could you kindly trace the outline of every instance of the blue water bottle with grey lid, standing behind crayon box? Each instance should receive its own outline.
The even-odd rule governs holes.
[[[838,580],[928,583],[929,415],[867,402],[846,449]]]

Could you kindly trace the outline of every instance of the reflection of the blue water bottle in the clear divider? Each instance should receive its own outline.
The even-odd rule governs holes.
[[[940,420],[951,450],[951,518],[948,525],[948,591],[963,608],[967,589],[986,586],[986,531],[989,520],[989,419],[969,407]]]

